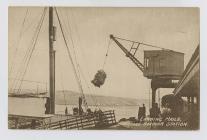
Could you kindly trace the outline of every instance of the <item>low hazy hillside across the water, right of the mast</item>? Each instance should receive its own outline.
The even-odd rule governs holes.
[[[64,97],[65,96],[65,97]],[[56,104],[70,104],[77,105],[78,98],[81,96],[80,93],[74,91],[56,91]],[[103,106],[107,105],[119,105],[119,106],[130,106],[130,105],[141,105],[147,103],[147,100],[138,100],[132,98],[113,97],[113,96],[98,96],[85,94],[88,105],[100,104]]]

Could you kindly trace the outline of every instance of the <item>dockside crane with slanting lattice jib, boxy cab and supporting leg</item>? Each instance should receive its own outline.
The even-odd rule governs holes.
[[[113,36],[112,34],[110,35],[110,39],[112,39],[116,44],[117,46],[126,54],[126,56],[137,66],[137,68],[144,74],[145,77],[147,77],[148,79],[151,79],[151,89],[152,89],[152,108],[150,109],[150,116],[151,117],[156,117],[156,114],[153,113],[153,110],[156,108],[156,90],[158,88],[175,88],[176,84],[177,84],[177,81],[175,80],[178,80],[181,75],[182,75],[182,72],[183,72],[183,59],[184,59],[184,54],[183,53],[179,53],[179,52],[174,52],[172,50],[167,50],[167,49],[164,49],[164,48],[161,48],[161,47],[157,47],[157,46],[153,46],[153,45],[149,45],[149,44],[145,44],[145,43],[140,43],[140,42],[137,42],[137,41],[131,41],[131,40],[128,40],[128,39],[123,39],[123,38],[119,38],[119,37],[115,37]],[[124,41],[128,41],[128,42],[132,42],[132,46],[130,48],[130,50],[128,51],[118,40],[124,40]],[[170,54],[174,54],[176,53],[176,55],[179,55],[179,60],[182,60],[181,63],[180,63],[180,68],[177,70],[177,68],[175,66],[172,66],[173,64],[170,64],[170,63],[166,63],[165,65],[171,65],[172,66],[172,70],[173,72],[171,72],[172,74],[168,74],[169,73],[169,70],[168,70],[168,73],[164,73],[164,74],[160,74],[160,73],[154,73],[154,61],[153,58],[152,59],[149,59],[151,60],[153,63],[153,74],[152,75],[149,75],[149,62],[146,61],[147,59],[145,59],[144,61],[144,64],[142,64],[136,57],[135,57],[135,54],[139,48],[140,45],[146,45],[146,46],[151,46],[151,47],[156,47],[156,48],[160,48],[162,50],[164,50],[163,52],[160,51],[160,52],[157,52],[157,51],[154,51],[154,53],[160,53],[160,56],[162,55],[161,53],[170,53]],[[181,57],[180,57],[181,56]],[[154,56],[153,56],[154,57]],[[171,56],[170,56],[171,57]],[[177,57],[177,56],[176,56]],[[172,58],[172,60],[175,59],[175,58]],[[166,59],[167,60],[167,59]],[[177,60],[177,59],[176,59]],[[159,63],[160,63],[160,59],[159,59]],[[160,65],[160,64],[159,64]],[[176,65],[176,63],[174,64]],[[175,74],[175,71],[176,71],[176,74]]]

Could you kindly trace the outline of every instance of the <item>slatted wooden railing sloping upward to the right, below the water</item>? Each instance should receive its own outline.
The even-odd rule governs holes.
[[[44,124],[36,129],[93,129],[116,124],[113,110],[88,115],[71,116],[65,120]]]

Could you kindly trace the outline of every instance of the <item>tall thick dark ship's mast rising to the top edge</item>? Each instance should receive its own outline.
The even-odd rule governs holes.
[[[49,7],[49,92],[50,114],[55,114],[55,51],[53,48],[53,7]]]

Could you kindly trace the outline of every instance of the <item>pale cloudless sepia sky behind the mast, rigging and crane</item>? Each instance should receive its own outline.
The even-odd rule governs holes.
[[[149,99],[150,80],[144,77],[133,62],[125,57],[114,42],[109,45],[104,66],[107,74],[105,84],[101,88],[95,88],[91,84],[90,81],[95,73],[103,68],[110,34],[182,52],[185,54],[184,66],[199,44],[198,8],[57,7],[57,11],[72,57],[77,58],[81,69],[84,93]],[[11,79],[18,79],[17,73],[22,68],[24,55],[27,48],[31,46],[31,39],[42,12],[43,7],[9,8],[9,78]],[[24,18],[25,22],[22,26]],[[55,13],[54,25],[57,26],[57,37],[54,42],[56,89],[79,91]],[[129,48],[130,44],[121,43]],[[141,62],[143,62],[143,50],[149,49],[154,48],[140,47],[137,57]],[[48,83],[48,50],[47,10],[24,79]],[[13,87],[14,82],[11,79],[9,86]],[[83,82],[84,79],[86,82]],[[46,88],[46,85],[23,82],[22,88]],[[160,92],[161,95],[165,95],[171,93],[172,90],[161,89]]]

